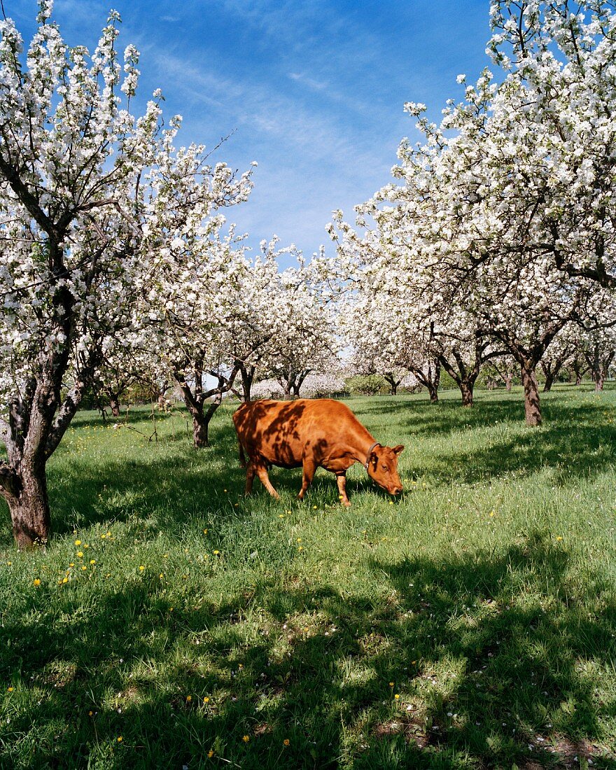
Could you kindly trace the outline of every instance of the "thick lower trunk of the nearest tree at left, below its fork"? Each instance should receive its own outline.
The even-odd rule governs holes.
[[[11,512],[13,536],[20,550],[44,545],[51,533],[45,464],[22,463],[15,494],[5,495]]]

